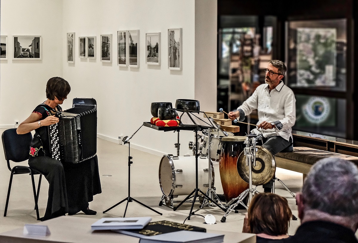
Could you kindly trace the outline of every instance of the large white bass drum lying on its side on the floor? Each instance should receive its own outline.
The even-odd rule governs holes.
[[[214,186],[214,167],[211,164]],[[209,159],[198,157],[198,188],[209,187]],[[164,155],[159,164],[159,184],[164,196],[189,195],[196,187],[195,156]]]

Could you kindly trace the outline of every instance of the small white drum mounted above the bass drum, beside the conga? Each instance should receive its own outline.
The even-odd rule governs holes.
[[[234,134],[231,132],[226,132],[227,136],[232,137]],[[220,151],[221,151],[221,144],[220,139],[222,137],[226,137],[226,134],[220,129],[217,129],[217,132],[211,132],[211,145],[210,145],[210,157],[212,161],[219,162],[220,159]],[[208,150],[209,150],[209,134],[204,130],[202,135],[202,143],[203,145],[200,147],[201,154],[205,154],[206,156],[209,156]]]

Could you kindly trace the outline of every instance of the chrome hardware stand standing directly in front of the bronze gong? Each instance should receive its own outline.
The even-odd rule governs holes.
[[[231,213],[231,211],[234,211],[234,208],[236,208],[237,205],[241,204],[246,209],[248,209],[248,206],[250,205],[252,197],[257,193],[256,189],[253,189],[252,187],[252,166],[256,166],[256,143],[257,140],[261,139],[258,137],[258,135],[248,135],[248,138],[245,140],[246,147],[244,148],[244,153],[246,155],[246,166],[249,168],[249,183],[248,183],[248,189],[243,191],[238,197],[231,199],[226,205],[230,205],[227,209],[226,213],[220,220],[222,223],[226,221],[226,216]],[[246,196],[249,196],[247,206],[242,202]],[[237,200],[237,201],[236,201]],[[236,203],[233,203],[236,201]]]

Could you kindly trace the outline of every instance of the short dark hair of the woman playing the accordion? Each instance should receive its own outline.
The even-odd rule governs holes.
[[[60,77],[53,77],[47,81],[46,97],[49,100],[64,100],[71,91],[71,86],[68,82]]]

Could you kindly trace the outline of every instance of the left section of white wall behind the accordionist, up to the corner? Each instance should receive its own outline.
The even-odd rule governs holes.
[[[0,10],[0,34],[8,36],[8,58],[0,61],[0,128],[9,128],[46,100],[47,80],[62,75],[62,2],[1,0]],[[13,60],[14,35],[41,35],[42,60]]]

